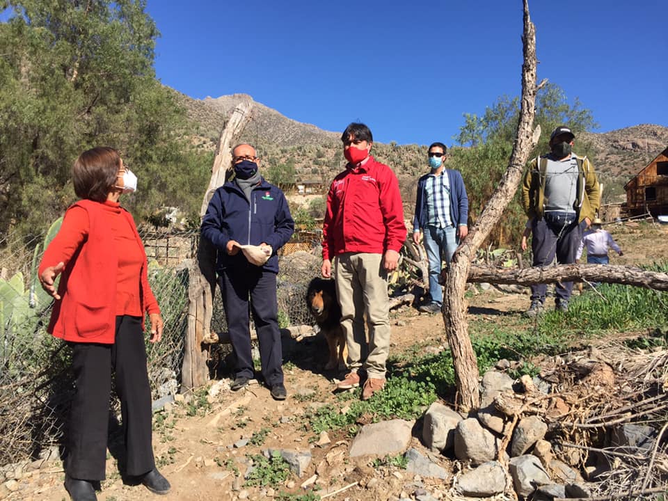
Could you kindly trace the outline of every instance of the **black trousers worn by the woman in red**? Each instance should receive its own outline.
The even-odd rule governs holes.
[[[111,372],[115,373],[125,434],[126,475],[143,475],[153,458],[151,388],[141,318],[116,317],[114,344],[71,343],[76,392],[70,410],[65,471],[104,480]]]

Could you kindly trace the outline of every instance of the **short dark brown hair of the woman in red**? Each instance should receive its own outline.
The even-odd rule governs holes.
[[[79,155],[72,167],[74,193],[79,198],[104,202],[116,186],[120,155],[109,146],[97,146]]]

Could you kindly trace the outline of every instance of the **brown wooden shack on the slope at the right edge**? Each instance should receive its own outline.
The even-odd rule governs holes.
[[[668,214],[668,148],[624,185],[629,215]]]

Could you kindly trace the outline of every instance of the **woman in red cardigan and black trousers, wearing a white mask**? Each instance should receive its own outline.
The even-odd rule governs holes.
[[[72,169],[81,198],[65,212],[61,230],[42,257],[42,287],[56,299],[48,331],[72,347],[75,393],[68,423],[65,488],[74,501],[95,501],[105,477],[111,374],[120,398],[126,471],[157,494],[170,485],[155,467],[151,389],[143,321],[151,342],[162,337],[160,308],[148,285],[148,262],[121,193],[136,176],[113,148],[83,152]],[[58,289],[54,285],[60,275]]]

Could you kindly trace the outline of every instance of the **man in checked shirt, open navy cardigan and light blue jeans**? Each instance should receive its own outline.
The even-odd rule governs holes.
[[[420,311],[436,313],[443,304],[440,288],[443,257],[450,264],[459,242],[468,234],[468,196],[459,170],[443,168],[447,148],[443,143],[429,146],[431,172],[417,181],[413,242],[420,243],[424,232],[424,248],[429,258],[429,296],[431,302]]]

